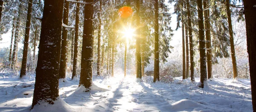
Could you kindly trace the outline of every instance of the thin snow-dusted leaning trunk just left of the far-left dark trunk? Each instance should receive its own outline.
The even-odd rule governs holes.
[[[20,3],[19,5],[19,11],[18,11],[18,17],[16,21],[16,26],[15,26],[15,39],[14,39],[14,45],[13,45],[13,52],[12,52],[12,68],[16,67],[16,62],[17,62],[17,49],[18,49],[18,42],[19,42],[19,25],[20,25],[20,14],[22,8],[22,4]]]

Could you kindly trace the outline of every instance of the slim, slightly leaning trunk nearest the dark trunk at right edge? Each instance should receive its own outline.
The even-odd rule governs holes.
[[[231,21],[229,0],[226,0],[226,7],[227,7],[227,20],[228,20],[228,27],[229,27],[229,34],[230,34],[231,58],[232,58],[233,74],[234,74],[233,78],[235,79],[237,77],[236,53],[235,53],[233,27],[232,27],[232,21]]]

